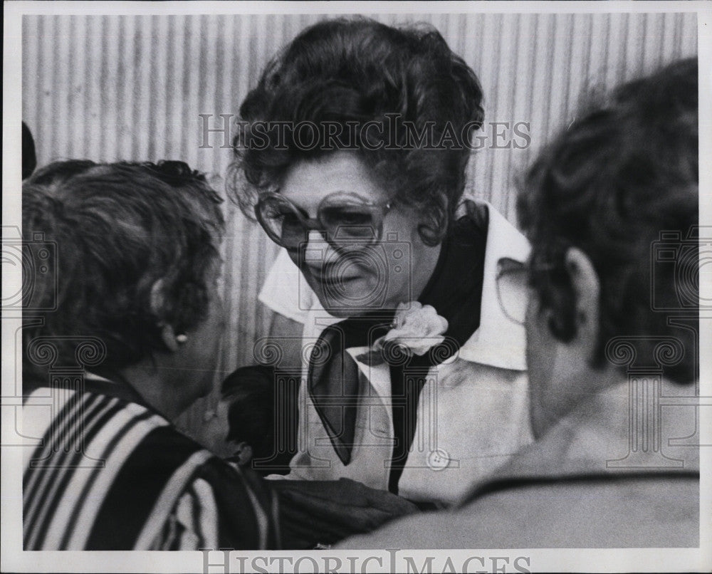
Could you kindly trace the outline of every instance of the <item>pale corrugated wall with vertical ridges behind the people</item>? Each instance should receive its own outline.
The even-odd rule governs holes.
[[[231,161],[199,114],[236,114],[271,56],[304,26],[328,16],[24,16],[23,120],[38,162],[185,160],[218,189]],[[511,179],[570,118],[582,90],[611,86],[697,51],[696,14],[375,15],[425,21],[481,79],[486,120],[530,122],[527,149],[479,150],[468,190],[514,220]],[[229,331],[221,368],[253,362],[270,319],[256,294],[276,250],[232,205],[226,241]],[[199,424],[215,397],[182,420]]]

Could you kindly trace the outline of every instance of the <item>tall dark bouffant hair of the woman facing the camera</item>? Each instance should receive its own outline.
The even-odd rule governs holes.
[[[482,97],[475,73],[434,28],[394,28],[363,18],[320,22],[271,61],[242,103],[231,197],[251,217],[258,194],[278,189],[294,162],[352,149],[392,199],[426,216],[420,235],[438,244],[464,192]],[[317,130],[305,149],[292,132],[256,133],[257,122],[332,123],[343,131],[329,139],[328,130]],[[378,129],[364,135],[358,128],[369,123]],[[419,133],[432,129],[434,142],[444,137],[449,145],[414,142],[407,124]]]

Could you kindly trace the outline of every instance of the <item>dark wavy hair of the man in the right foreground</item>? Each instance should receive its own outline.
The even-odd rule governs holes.
[[[566,250],[576,246],[595,266],[597,367],[616,336],[637,338],[645,358],[655,337],[674,336],[685,355],[666,375],[696,378],[696,320],[693,330],[676,329],[669,313],[656,309],[680,308],[681,288],[698,293],[698,285],[681,286],[674,265],[656,266],[652,248],[661,232],[684,240],[698,224],[697,92],[693,59],[619,86],[580,113],[520,184],[518,215],[533,249],[530,282],[543,308],[553,311],[549,327],[560,340],[575,335]],[[696,266],[698,247],[691,249]],[[697,307],[687,311],[696,316]]]

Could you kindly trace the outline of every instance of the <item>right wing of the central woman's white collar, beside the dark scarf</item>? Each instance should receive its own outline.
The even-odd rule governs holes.
[[[497,264],[503,257],[524,263],[530,245],[505,217],[488,202],[489,214],[480,305],[480,326],[460,348],[459,357],[501,369],[526,370],[525,330],[503,313],[497,296]],[[526,297],[523,289],[522,298]]]

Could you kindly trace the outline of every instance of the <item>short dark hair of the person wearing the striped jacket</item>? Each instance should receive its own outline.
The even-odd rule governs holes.
[[[183,162],[72,160],[38,169],[23,184],[23,236],[42,234],[56,246],[55,272],[28,278],[24,288],[33,307],[56,310],[28,310],[42,324],[23,330],[24,344],[53,338],[58,364],[73,365],[75,342],[63,338],[98,338],[106,346],[100,372],[165,350],[162,324],[191,330],[206,314],[224,228],[221,202],[204,175]],[[25,362],[33,370],[27,356]]]

